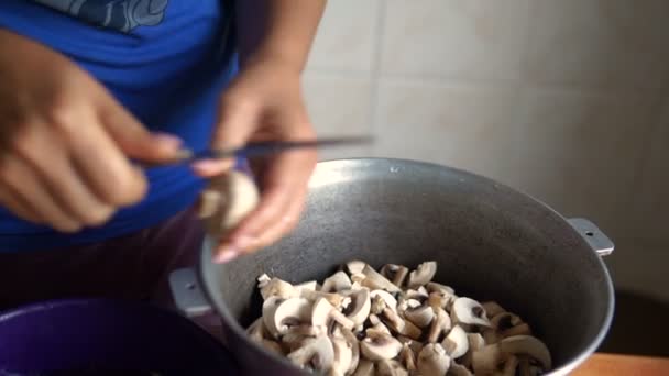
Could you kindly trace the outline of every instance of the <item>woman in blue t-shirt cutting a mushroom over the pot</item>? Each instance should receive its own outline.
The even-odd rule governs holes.
[[[186,151],[314,137],[300,92],[325,0],[4,0],[0,4],[0,307],[155,298],[189,264],[189,210],[230,162],[141,170]],[[227,262],[289,231],[314,152],[253,165],[259,208]]]

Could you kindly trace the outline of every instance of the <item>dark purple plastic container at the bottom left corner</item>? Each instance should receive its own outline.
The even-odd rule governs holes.
[[[239,375],[231,355],[207,332],[150,305],[58,300],[0,314],[0,375],[91,368]]]

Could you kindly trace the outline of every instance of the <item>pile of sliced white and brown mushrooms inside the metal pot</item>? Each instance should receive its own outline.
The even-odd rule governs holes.
[[[248,332],[303,369],[328,375],[540,375],[546,345],[498,303],[434,283],[436,262],[409,273],[361,261],[292,285],[262,275],[262,317]]]

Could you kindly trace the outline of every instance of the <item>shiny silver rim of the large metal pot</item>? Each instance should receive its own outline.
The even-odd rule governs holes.
[[[361,162],[388,162],[388,163],[395,162],[395,163],[401,163],[404,165],[414,165],[414,166],[419,166],[419,167],[429,167],[429,168],[439,168],[439,169],[450,170],[452,173],[456,173],[457,175],[462,175],[462,176],[465,176],[469,178],[473,178],[473,179],[476,179],[482,183],[489,183],[489,184],[494,185],[495,187],[502,187],[502,188],[508,189],[519,196],[528,198],[530,201],[535,202],[537,206],[549,211],[550,213],[552,213],[560,220],[564,221],[564,223],[569,225],[567,218],[564,218],[557,210],[555,210],[553,208],[548,206],[546,202],[537,199],[536,197],[528,195],[522,190],[512,188],[503,183],[487,178],[485,176],[482,176],[482,175],[479,175],[475,173],[471,173],[471,172],[468,172],[464,169],[456,168],[456,167],[450,167],[450,166],[440,165],[440,164],[430,163],[430,162],[416,161],[416,159],[410,159],[410,158],[354,157],[354,158],[338,158],[338,159],[321,161],[321,162],[318,162],[317,168],[319,166],[331,166],[331,165],[341,164],[341,163],[361,163]],[[315,170],[315,173],[316,173],[316,170]],[[606,264],[602,259],[602,256],[596,254],[595,250],[593,250],[588,244],[588,242],[583,239],[583,236],[574,228],[572,228],[571,225],[569,225],[569,226],[578,235],[578,239],[579,239],[578,242],[581,243],[582,248],[589,250],[596,256],[597,263],[600,264],[601,269],[604,274],[603,276],[605,279],[605,284],[606,284],[606,296],[607,296],[606,298],[607,298],[608,303],[607,303],[607,308],[606,308],[606,316],[604,317],[604,320],[600,327],[600,330],[599,330],[597,334],[593,338],[592,342],[581,353],[579,353],[578,355],[571,356],[567,361],[564,361],[563,365],[561,365],[557,368],[552,368],[549,373],[546,373],[545,375],[547,375],[547,376],[548,375],[567,375],[571,371],[577,368],[579,365],[581,365],[588,357],[590,357],[596,351],[596,349],[600,346],[600,344],[604,341],[604,339],[606,338],[606,334],[608,333],[611,323],[613,321],[613,313],[614,313],[614,309],[615,309],[615,295],[614,295],[614,288],[613,288],[613,280],[611,278],[611,274],[608,273]],[[211,263],[212,254],[211,254],[210,243],[211,243],[211,240],[207,236],[205,239],[205,243],[202,245],[202,251],[200,253],[200,259],[197,265],[197,278],[198,278],[200,286],[204,287],[202,291],[205,294],[206,299],[210,302],[213,302],[212,308],[213,308],[215,312],[217,312],[221,317],[221,319],[226,322],[226,324],[229,325],[229,328],[237,335],[241,336],[243,339],[243,341],[245,341],[248,344],[250,344],[257,351],[260,351],[260,352],[264,353],[265,355],[270,356],[271,358],[293,368],[296,373],[300,373],[303,375],[311,375],[311,373],[307,373],[306,371],[300,369],[297,366],[295,366],[285,356],[279,356],[276,353],[273,353],[273,352],[266,350],[265,347],[253,342],[246,334],[246,330],[242,325],[240,325],[238,320],[232,316],[232,313],[228,309],[228,305],[226,303],[226,301],[222,299],[219,301],[219,299],[217,299],[215,295],[210,294],[210,289],[209,289],[210,285],[207,284],[207,280],[206,280],[206,278],[204,276],[204,272],[202,272],[206,268],[206,265]]]

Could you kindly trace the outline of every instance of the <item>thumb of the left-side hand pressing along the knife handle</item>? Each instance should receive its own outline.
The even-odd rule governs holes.
[[[183,157],[182,141],[166,133],[151,133],[122,106],[110,101],[100,119],[109,136],[129,157],[143,162],[163,162]]]

